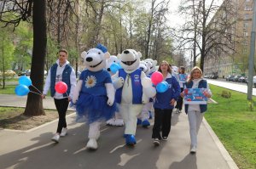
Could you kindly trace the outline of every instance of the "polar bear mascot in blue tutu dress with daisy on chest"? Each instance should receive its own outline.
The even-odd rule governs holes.
[[[74,91],[73,104],[76,104],[77,121],[85,119],[89,123],[89,141],[87,149],[97,149],[97,139],[100,137],[100,125],[114,115],[114,88],[111,76],[106,68],[109,58],[108,49],[98,44],[88,52],[81,54],[85,70],[79,77]]]

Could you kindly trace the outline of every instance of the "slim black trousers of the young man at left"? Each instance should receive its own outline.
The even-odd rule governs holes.
[[[57,132],[61,133],[63,127],[67,127],[66,113],[68,107],[68,99],[55,99],[55,106],[59,114],[59,122]]]

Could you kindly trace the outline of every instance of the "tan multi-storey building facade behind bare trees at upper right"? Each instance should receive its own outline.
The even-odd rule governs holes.
[[[234,6],[236,8],[229,9]],[[210,57],[205,60],[204,72],[205,74],[218,72],[219,77],[247,76],[250,33],[253,24],[253,0],[224,0],[211,21],[221,18],[231,21],[232,25],[224,30],[227,33],[225,36],[230,36],[231,46],[225,52],[215,51],[213,48]],[[220,38],[219,41],[225,42],[226,38]]]

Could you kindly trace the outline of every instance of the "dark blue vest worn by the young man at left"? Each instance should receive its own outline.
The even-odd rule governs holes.
[[[55,80],[56,80],[56,71],[57,71],[58,65],[55,64],[51,66],[50,68],[50,95],[51,97],[54,97],[55,95]],[[71,74],[72,68],[70,65],[66,65],[63,73],[62,73],[62,82],[65,82],[67,84],[67,93],[63,93],[63,97],[67,97],[67,94],[70,93],[70,74]]]

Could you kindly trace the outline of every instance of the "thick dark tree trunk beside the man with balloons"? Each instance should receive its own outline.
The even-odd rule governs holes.
[[[45,5],[45,0],[34,0],[32,9],[33,51],[31,80],[33,86],[40,91],[43,90],[44,85],[44,59],[47,41]],[[38,93],[33,87],[30,87],[30,89]],[[24,115],[45,115],[40,95],[35,93],[28,94]]]

